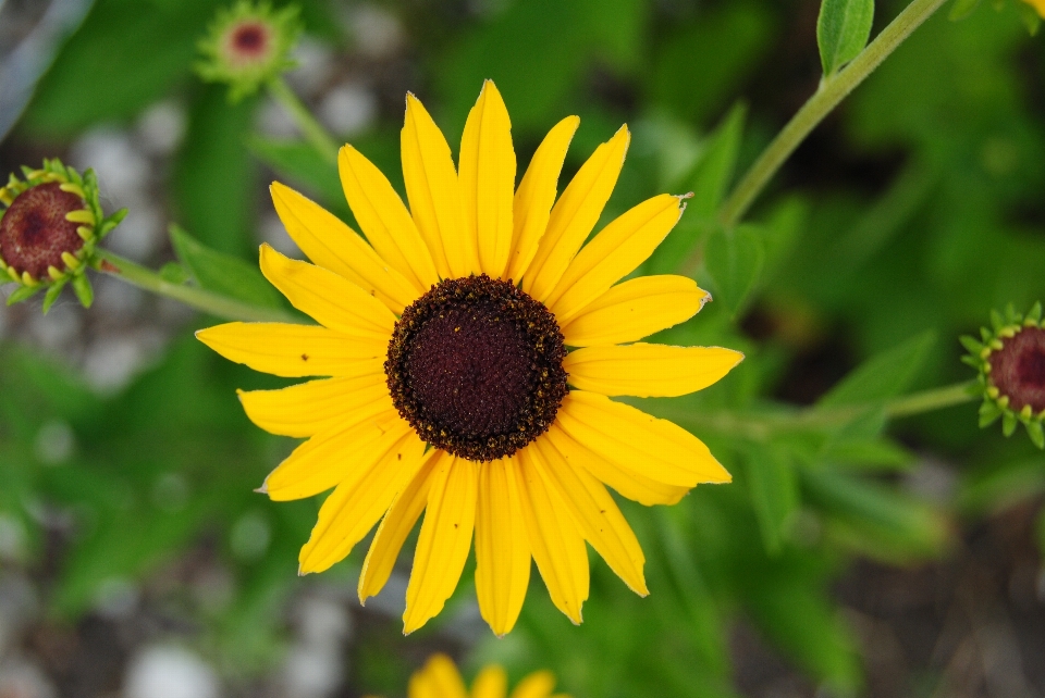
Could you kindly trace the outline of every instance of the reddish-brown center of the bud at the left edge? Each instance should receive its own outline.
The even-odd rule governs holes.
[[[19,274],[36,278],[48,266],[64,269],[62,252],[75,254],[84,246],[76,233],[81,224],[66,221],[65,214],[83,208],[84,200],[62,191],[57,182],[26,189],[0,219],[0,257]]]

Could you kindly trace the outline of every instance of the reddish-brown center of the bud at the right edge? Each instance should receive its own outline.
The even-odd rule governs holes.
[[[1045,329],[1024,327],[991,354],[991,382],[1017,412],[1045,410]]]

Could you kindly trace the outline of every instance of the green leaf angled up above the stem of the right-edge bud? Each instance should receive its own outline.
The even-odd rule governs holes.
[[[925,332],[865,361],[816,403],[821,408],[868,404],[902,392],[918,375],[935,341]]]

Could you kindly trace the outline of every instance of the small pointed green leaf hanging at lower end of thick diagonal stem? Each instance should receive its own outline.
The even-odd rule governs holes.
[[[754,288],[764,261],[765,246],[753,225],[716,228],[704,244],[704,267],[714,284],[715,300],[734,316]]]

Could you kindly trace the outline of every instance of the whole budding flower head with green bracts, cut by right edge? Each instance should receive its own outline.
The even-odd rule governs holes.
[[[1031,440],[1045,448],[1045,322],[1042,304],[1021,315],[1010,306],[1005,316],[994,312],[992,329],[981,328],[981,339],[962,337],[969,356],[962,360],[980,371],[983,404],[980,425],[1001,419],[1006,436],[1018,423]]]

